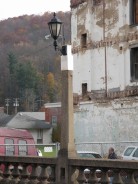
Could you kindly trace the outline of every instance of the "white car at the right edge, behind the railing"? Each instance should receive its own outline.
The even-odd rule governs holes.
[[[124,150],[122,158],[125,160],[138,160],[138,146],[128,146]]]

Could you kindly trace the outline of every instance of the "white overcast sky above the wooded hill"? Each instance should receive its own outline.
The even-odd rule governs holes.
[[[3,0],[0,3],[0,20],[47,11],[70,11],[70,0]]]

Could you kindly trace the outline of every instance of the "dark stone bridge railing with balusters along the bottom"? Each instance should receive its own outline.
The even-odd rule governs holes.
[[[68,158],[69,183],[61,174],[58,158],[0,156],[0,184],[137,184],[138,161]]]

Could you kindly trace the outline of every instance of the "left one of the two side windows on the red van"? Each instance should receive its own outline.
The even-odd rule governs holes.
[[[15,148],[13,139],[5,139],[5,144],[8,144],[6,145],[6,156],[14,155]]]

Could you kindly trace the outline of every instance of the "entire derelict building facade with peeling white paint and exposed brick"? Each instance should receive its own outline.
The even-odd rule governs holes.
[[[71,0],[71,12],[76,141],[136,140],[138,1]]]

